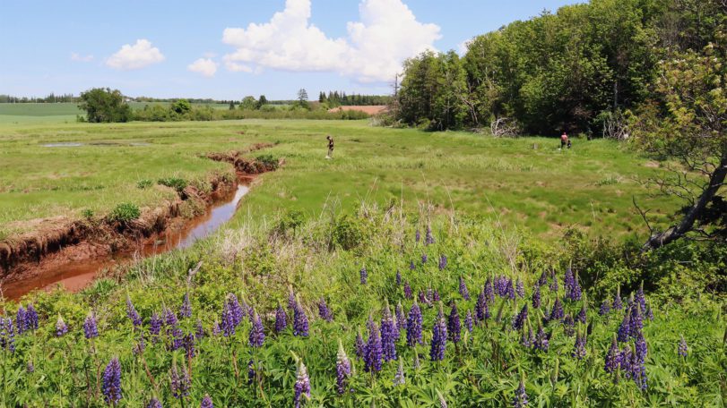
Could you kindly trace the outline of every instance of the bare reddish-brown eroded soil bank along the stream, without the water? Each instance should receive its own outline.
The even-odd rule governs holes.
[[[0,287],[17,286],[20,281],[52,279],[53,276],[60,276],[69,263],[78,264],[82,261],[89,268],[98,270],[98,264],[108,264],[115,254],[144,255],[162,251],[157,249],[156,242],[167,242],[169,236],[165,235],[176,233],[175,236],[181,236],[180,231],[185,231],[185,227],[188,229],[199,224],[200,217],[190,220],[182,216],[183,206],[191,203],[193,207],[207,208],[209,211],[213,202],[230,197],[237,190],[238,181],[248,184],[255,174],[273,171],[281,166],[283,159],[277,163],[260,163],[242,156],[270,146],[258,143],[243,151],[207,155],[212,160],[235,166],[238,180],[213,176],[209,180],[212,186],[209,192],[187,186],[175,200],[157,208],[142,208],[141,217],[128,223],[111,222],[106,218],[68,220],[58,217],[38,220],[39,228],[35,231],[10,236],[0,242]],[[17,293],[7,293],[6,297],[18,297],[11,294]]]

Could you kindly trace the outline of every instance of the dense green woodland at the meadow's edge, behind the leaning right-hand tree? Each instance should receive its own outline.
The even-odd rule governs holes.
[[[601,135],[656,97],[662,61],[716,42],[723,0],[592,0],[405,62],[396,119],[430,130],[511,123]]]

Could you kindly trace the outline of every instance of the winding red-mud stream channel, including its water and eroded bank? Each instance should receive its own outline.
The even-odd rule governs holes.
[[[244,153],[269,146],[257,144]],[[210,180],[211,191],[181,191],[178,200],[151,208],[127,225],[89,225],[77,221],[64,225],[53,234],[0,242],[0,289],[4,298],[18,300],[34,289],[52,288],[58,284],[78,291],[102,270],[187,248],[212,234],[234,216],[255,175],[273,171],[283,163],[282,159],[274,162],[245,159],[242,154],[232,151],[207,156],[232,164],[237,180],[214,176]],[[180,207],[187,200],[203,203],[206,210],[198,217],[182,217]]]

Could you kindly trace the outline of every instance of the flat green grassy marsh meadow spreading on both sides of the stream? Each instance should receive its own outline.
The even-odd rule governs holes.
[[[326,134],[335,138],[333,160],[325,159]],[[609,140],[575,140],[574,149],[558,151],[552,139],[387,129],[368,121],[0,125],[0,236],[33,228],[34,218],[81,217],[84,209],[105,214],[123,201],[153,206],[173,192],[141,190],[139,181],[229,171],[201,155],[264,141],[279,144],[260,154],[285,157],[286,165],[262,176],[238,220],[264,221],[290,208],[318,214],[325,202],[352,211],[360,200],[404,200],[550,239],[569,225],[594,235],[643,232],[635,195],[645,208],[677,208],[673,200],[647,197],[635,182],[659,171],[654,164]],[[44,146],[58,142],[83,145]]]

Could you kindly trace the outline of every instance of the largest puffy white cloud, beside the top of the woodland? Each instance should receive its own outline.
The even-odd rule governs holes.
[[[310,0],[286,0],[285,9],[268,22],[225,29],[222,41],[235,47],[224,56],[226,67],[243,63],[254,71],[327,71],[359,81],[391,81],[404,59],[434,49],[441,37],[436,24],[417,21],[402,0],[362,0],[359,21],[348,22],[346,38],[329,38],[310,16]]]

